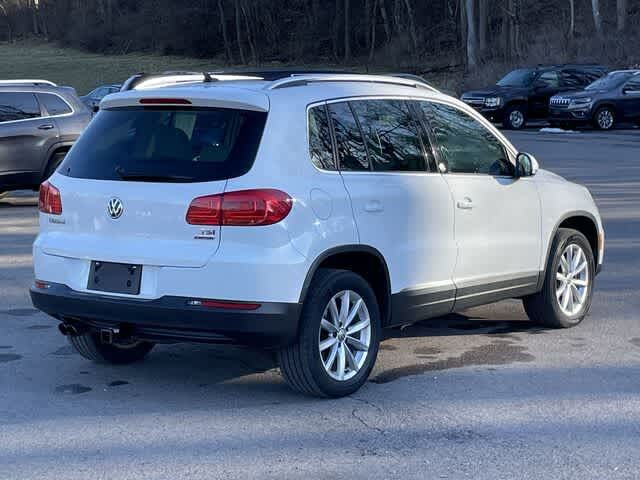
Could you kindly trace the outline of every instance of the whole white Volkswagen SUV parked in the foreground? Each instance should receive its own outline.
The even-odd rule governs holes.
[[[382,328],[513,297],[549,327],[589,309],[604,234],[587,189],[419,80],[124,88],[40,191],[31,297],[89,359],[258,345],[333,397],[366,381]]]

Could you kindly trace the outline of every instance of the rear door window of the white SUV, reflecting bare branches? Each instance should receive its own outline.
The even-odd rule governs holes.
[[[418,123],[402,100],[351,102],[367,143],[374,171],[427,170]]]

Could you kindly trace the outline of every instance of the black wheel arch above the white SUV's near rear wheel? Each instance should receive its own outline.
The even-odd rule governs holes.
[[[314,260],[307,272],[300,303],[309,293],[309,286],[320,268],[349,270],[363,277],[373,288],[380,306],[382,326],[389,324],[391,318],[391,279],[389,268],[383,255],[367,245],[344,245],[325,250]]]

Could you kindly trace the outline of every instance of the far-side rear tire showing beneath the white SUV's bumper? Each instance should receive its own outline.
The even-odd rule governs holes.
[[[71,346],[88,360],[97,363],[111,363],[127,365],[142,360],[154,347],[150,342],[136,342],[132,344],[105,344],[95,333],[83,333],[78,336],[67,337]]]

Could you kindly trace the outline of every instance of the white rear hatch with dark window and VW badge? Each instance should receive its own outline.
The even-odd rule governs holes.
[[[266,112],[162,99],[102,110],[51,179],[62,215],[43,221],[45,253],[200,267],[220,226],[190,225],[196,197],[223,193],[253,165]],[[166,105],[163,103],[172,103]]]

